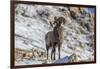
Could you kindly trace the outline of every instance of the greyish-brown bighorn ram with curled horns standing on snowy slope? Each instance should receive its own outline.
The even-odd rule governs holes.
[[[65,18],[64,17],[54,17],[54,22],[50,23],[51,26],[55,24],[53,31],[47,32],[45,35],[45,42],[46,42],[46,50],[47,50],[47,59],[48,59],[48,51],[50,48],[52,48],[51,52],[51,59],[52,56],[54,55],[54,60],[55,60],[55,48],[58,47],[58,53],[59,53],[59,59],[60,59],[60,48],[62,46],[63,42],[63,26],[62,24],[65,23]]]

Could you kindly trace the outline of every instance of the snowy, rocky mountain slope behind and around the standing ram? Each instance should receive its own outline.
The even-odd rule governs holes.
[[[16,4],[15,7],[15,48],[31,52],[32,49],[40,50],[46,55],[45,35],[53,30],[48,16],[63,16],[66,19],[66,23],[64,25],[61,58],[71,56],[74,53],[77,57],[76,62],[94,60],[94,14],[89,14],[87,8],[28,4]],[[80,12],[83,10],[86,14]],[[75,12],[75,18],[71,16],[71,11]],[[53,18],[51,21],[53,21]],[[46,58],[46,56],[43,58]],[[56,49],[57,59],[58,51]],[[52,63],[50,58],[49,60],[39,60],[33,57],[29,60],[16,60],[15,65],[33,65],[49,62]]]

